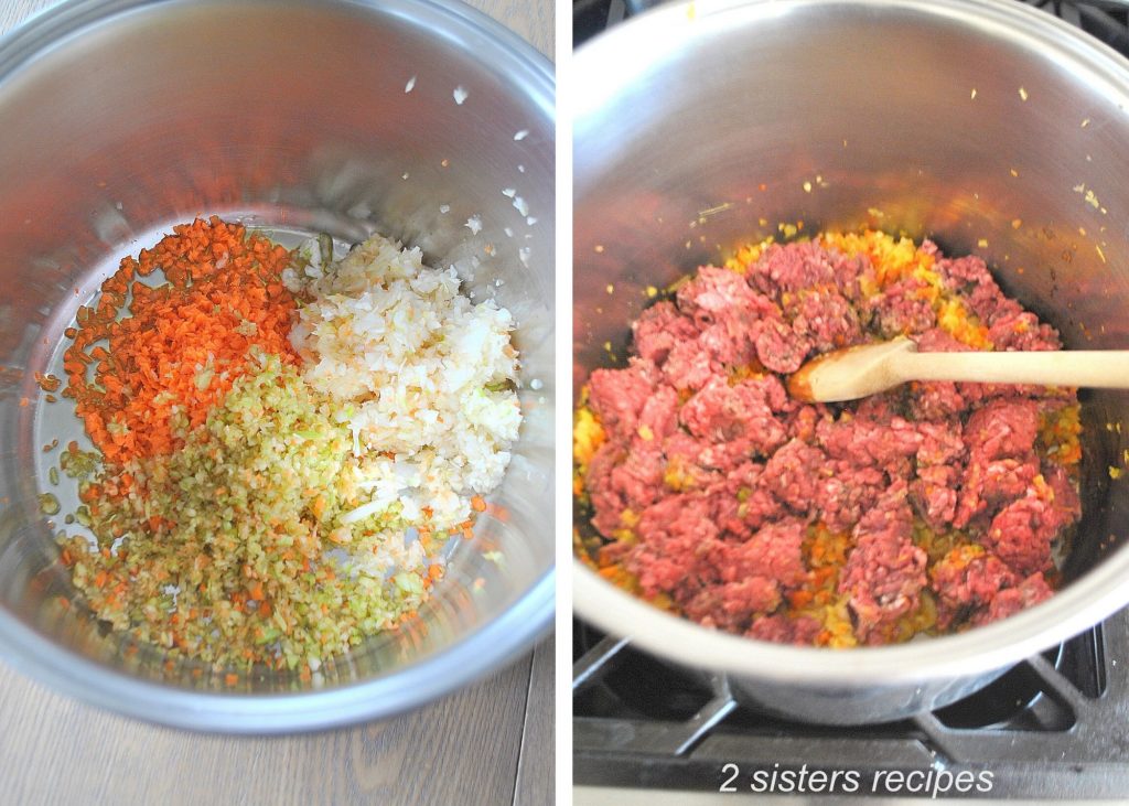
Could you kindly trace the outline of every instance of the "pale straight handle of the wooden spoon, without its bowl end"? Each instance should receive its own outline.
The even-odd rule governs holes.
[[[905,352],[893,365],[903,380],[1129,388],[1129,350]]]

